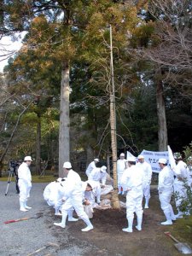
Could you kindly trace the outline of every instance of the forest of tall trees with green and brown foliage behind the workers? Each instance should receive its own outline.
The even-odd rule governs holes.
[[[191,147],[191,8],[187,0],[1,1],[0,37],[26,32],[0,74],[1,175],[25,155],[37,174],[61,173],[65,160],[76,171],[94,157],[110,166],[112,81],[117,155]]]

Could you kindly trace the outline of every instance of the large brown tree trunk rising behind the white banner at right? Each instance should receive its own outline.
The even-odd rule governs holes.
[[[167,129],[166,129],[166,108],[163,96],[163,84],[161,79],[161,72],[159,73],[156,85],[156,101],[157,101],[157,116],[159,122],[158,138],[159,151],[167,150]]]

